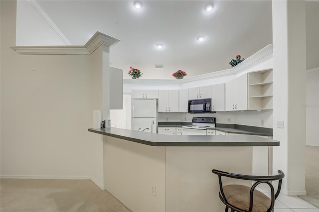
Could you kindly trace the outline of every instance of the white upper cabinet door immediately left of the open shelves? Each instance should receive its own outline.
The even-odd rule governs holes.
[[[247,74],[235,79],[235,109],[247,110]]]

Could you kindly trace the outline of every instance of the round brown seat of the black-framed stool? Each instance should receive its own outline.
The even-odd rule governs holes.
[[[243,185],[227,185],[223,187],[226,200],[236,208],[249,211],[250,187]],[[267,212],[271,200],[258,190],[254,191],[252,212]]]

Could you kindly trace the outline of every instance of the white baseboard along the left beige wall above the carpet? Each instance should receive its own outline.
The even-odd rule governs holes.
[[[0,179],[38,179],[38,180],[91,180],[102,191],[103,185],[91,176],[40,176],[40,175],[1,175]]]

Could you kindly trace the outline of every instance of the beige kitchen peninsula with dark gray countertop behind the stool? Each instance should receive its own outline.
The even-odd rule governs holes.
[[[253,135],[170,136],[113,127],[88,131],[103,135],[105,189],[134,212],[221,212],[218,178],[211,170],[252,174],[253,147],[280,144]]]

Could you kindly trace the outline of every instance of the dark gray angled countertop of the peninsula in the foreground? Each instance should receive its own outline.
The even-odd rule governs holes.
[[[277,140],[254,135],[164,135],[130,129],[88,129],[90,132],[150,146],[279,146]]]

